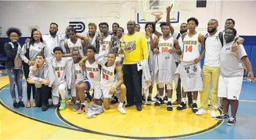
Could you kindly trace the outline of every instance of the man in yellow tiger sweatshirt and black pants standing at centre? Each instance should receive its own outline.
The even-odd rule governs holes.
[[[127,22],[128,33],[120,40],[120,52],[124,55],[123,72],[124,84],[127,88],[127,105],[131,107],[136,105],[138,111],[142,110],[142,70],[137,70],[137,63],[143,59],[149,59],[149,51],[147,50],[146,37],[139,32],[135,32],[135,21]],[[135,102],[134,102],[135,99]]]

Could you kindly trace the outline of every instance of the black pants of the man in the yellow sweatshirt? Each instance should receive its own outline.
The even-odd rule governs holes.
[[[142,70],[138,72],[137,64],[124,64],[124,84],[126,85],[127,104],[142,105]]]

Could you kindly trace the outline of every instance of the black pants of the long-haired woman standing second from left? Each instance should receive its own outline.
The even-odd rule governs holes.
[[[24,71],[24,76],[25,76],[25,80],[27,81],[27,78],[29,78],[29,65],[26,63],[23,63],[23,71]],[[33,99],[35,99],[35,93],[36,93],[36,87],[35,84],[29,84],[29,82],[27,82],[27,99],[30,100],[30,96],[31,96],[31,89],[33,92]]]

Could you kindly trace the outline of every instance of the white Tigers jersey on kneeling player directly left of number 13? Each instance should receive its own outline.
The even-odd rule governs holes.
[[[99,81],[101,81],[101,71],[99,70],[99,65],[95,62],[90,64],[89,61],[86,61],[86,77],[93,84],[99,85]]]

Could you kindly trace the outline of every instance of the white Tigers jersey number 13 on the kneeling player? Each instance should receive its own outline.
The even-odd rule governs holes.
[[[115,67],[114,63],[112,66],[107,67],[106,65],[101,65],[101,88],[107,89],[115,84]]]

